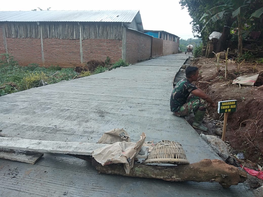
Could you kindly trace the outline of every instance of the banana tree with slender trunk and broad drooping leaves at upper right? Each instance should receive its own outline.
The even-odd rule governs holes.
[[[222,0],[223,5],[213,7],[209,9],[200,19],[200,21],[206,22],[203,32],[206,26],[217,20],[222,20],[231,17],[237,19],[238,28],[238,54],[242,54],[242,21],[245,19],[247,7],[251,3],[251,0]]]

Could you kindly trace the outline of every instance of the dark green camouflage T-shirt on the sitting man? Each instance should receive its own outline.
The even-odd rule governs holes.
[[[171,94],[170,98],[170,108],[171,112],[178,111],[178,108],[184,105],[187,102],[187,98],[193,90],[196,90],[197,87],[194,84],[191,84],[188,79],[180,80]]]

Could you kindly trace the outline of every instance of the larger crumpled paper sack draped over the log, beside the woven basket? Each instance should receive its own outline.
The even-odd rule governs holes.
[[[92,157],[102,165],[112,163],[123,163],[125,172],[130,173],[133,167],[134,157],[137,155],[145,141],[145,133],[141,134],[141,139],[134,142],[115,142],[93,151]]]

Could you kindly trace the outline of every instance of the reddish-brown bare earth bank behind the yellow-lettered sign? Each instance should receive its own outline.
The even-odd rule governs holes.
[[[261,167],[263,165],[263,90],[258,90],[257,87],[263,85],[263,65],[257,64],[254,69],[259,74],[255,86],[241,85],[240,88],[239,85],[232,84],[232,80],[237,76],[253,74],[255,63],[245,62],[238,70],[238,63],[228,61],[228,78],[225,80],[225,63],[221,60],[222,67],[217,71],[216,61],[216,58],[192,58],[187,64],[199,68],[199,79],[195,85],[215,103],[237,100],[236,112],[228,114],[226,141],[230,144],[232,155],[244,154],[244,166],[258,170],[257,164]],[[184,70],[181,73],[184,74]],[[209,128],[209,132],[203,133],[216,135],[216,131],[222,131],[223,120],[224,114],[219,114],[217,108],[208,107],[204,125]],[[193,116],[187,121],[192,123]],[[200,130],[196,131],[201,134]],[[247,184],[255,189],[263,185],[263,181],[248,174]]]

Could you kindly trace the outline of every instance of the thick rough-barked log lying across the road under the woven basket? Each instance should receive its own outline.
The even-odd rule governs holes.
[[[92,158],[92,165],[99,173],[117,174],[127,177],[155,178],[167,181],[218,182],[223,188],[245,182],[247,174],[219,159],[203,159],[193,164],[157,166],[134,164],[126,174],[123,164],[102,166]]]

